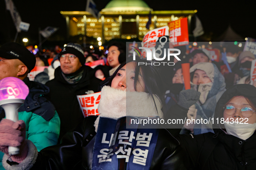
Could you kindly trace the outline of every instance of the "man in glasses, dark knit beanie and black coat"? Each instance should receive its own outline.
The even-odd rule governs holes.
[[[84,118],[77,95],[97,92],[101,80],[94,77],[91,67],[84,65],[84,51],[79,44],[68,43],[58,54],[58,60],[60,66],[55,69],[55,78],[45,85],[50,88],[48,97],[61,120],[60,142]]]

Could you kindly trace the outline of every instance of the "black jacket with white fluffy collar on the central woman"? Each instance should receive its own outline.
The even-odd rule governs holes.
[[[138,92],[131,93],[126,95],[126,91],[106,86],[102,88],[102,98],[98,106],[100,115],[120,117],[126,115],[126,113],[134,116],[158,114],[156,113],[156,108],[149,106],[152,104],[151,97],[145,96],[143,93],[137,100],[132,100],[130,97],[138,97],[139,94]],[[128,99],[127,101],[125,100],[126,98]],[[139,105],[138,100],[141,101],[139,110],[136,107]],[[129,105],[128,110],[126,110],[126,102]],[[157,100],[156,103],[158,103],[156,104],[157,109],[160,109],[161,104]],[[141,115],[143,108],[147,112]],[[34,164],[31,170],[91,170],[97,123],[97,116],[86,117],[73,131],[69,131],[64,135],[60,145],[48,147],[40,151],[36,161],[33,160],[33,157],[36,157],[37,153],[34,151],[31,143],[28,143],[28,156],[18,166],[23,166],[22,168],[24,168]],[[8,158],[6,155],[4,157]],[[183,155],[178,141],[166,129],[159,129],[150,170],[185,170],[184,157],[185,155]],[[10,167],[10,165],[7,164],[7,167]]]

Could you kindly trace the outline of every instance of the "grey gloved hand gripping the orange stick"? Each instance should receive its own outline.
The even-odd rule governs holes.
[[[200,95],[201,93],[194,89],[183,90],[179,94],[178,105],[188,109],[199,100]]]

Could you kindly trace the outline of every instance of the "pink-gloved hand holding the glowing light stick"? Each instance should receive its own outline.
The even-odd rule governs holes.
[[[20,163],[26,158],[28,147],[25,139],[26,125],[23,120],[18,120],[17,122],[8,119],[1,120],[0,151],[8,155],[8,146],[19,146],[19,154],[12,155],[12,161]]]

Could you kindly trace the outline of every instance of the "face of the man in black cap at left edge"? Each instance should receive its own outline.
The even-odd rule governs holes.
[[[17,77],[18,59],[5,59],[0,57],[0,80],[6,77]]]

